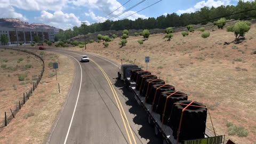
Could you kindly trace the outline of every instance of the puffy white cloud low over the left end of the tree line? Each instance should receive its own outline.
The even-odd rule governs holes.
[[[42,11],[41,16],[35,17],[35,19],[61,29],[68,29],[81,25],[79,17],[76,17],[75,14],[63,13],[62,11],[55,11],[54,13]]]

